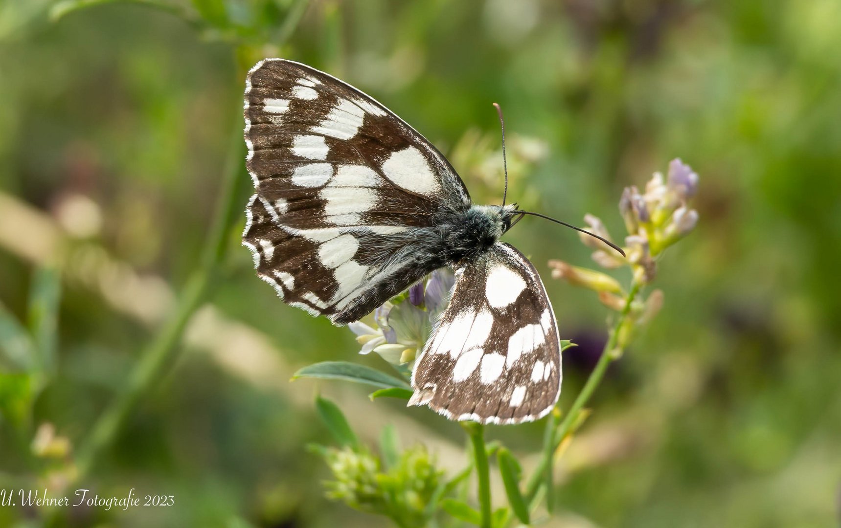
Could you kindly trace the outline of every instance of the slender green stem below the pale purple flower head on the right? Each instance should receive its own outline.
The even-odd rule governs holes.
[[[547,445],[544,446],[543,456],[537,464],[537,468],[532,474],[532,478],[529,479],[528,486],[526,487],[526,500],[532,504],[532,507],[536,505],[535,498],[537,497],[537,491],[540,488],[540,484],[544,482],[543,476],[545,473],[545,483],[547,485],[547,505],[551,508],[552,498],[549,494],[552,493],[553,454],[557,451],[558,446],[561,445],[563,439],[569,434],[570,428],[575,423],[576,418],[578,418],[581,409],[583,409],[584,405],[590,400],[590,397],[595,392],[595,388],[599,386],[602,378],[605,377],[607,367],[610,367],[611,363],[619,356],[616,350],[619,341],[619,329],[625,322],[628,313],[631,311],[631,304],[633,303],[634,298],[637,297],[637,293],[639,293],[640,288],[642,288],[642,284],[635,280],[632,283],[631,291],[625,299],[625,305],[622,307],[619,318],[616,319],[616,325],[614,325],[613,330],[611,330],[611,336],[607,340],[605,348],[601,351],[599,362],[595,364],[593,372],[590,372],[590,378],[587,378],[587,383],[584,383],[584,388],[581,389],[581,392],[575,398],[572,407],[569,408],[569,411],[563,417],[563,421],[558,426],[558,414],[553,413],[553,417],[547,425],[548,429],[545,438]]]

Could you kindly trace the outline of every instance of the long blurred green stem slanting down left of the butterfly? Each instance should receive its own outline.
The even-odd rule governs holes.
[[[183,331],[193,313],[208,297],[213,278],[228,247],[228,227],[233,223],[235,212],[239,210],[236,187],[242,172],[242,150],[241,123],[237,119],[236,136],[231,143],[214,224],[209,231],[201,264],[188,277],[172,317],[163,325],[155,340],[142,351],[124,389],[99,416],[90,435],[80,446],[76,461],[77,478],[87,475],[98,455],[114,441],[138,401],[150,392],[180,355],[182,347],[177,345]]]

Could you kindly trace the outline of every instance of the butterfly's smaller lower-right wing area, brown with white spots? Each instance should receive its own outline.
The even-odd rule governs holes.
[[[410,404],[452,420],[537,420],[561,385],[558,327],[537,271],[497,243],[457,272],[450,305],[415,365]]]

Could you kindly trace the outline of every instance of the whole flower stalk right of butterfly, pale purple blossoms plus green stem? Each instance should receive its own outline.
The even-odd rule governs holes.
[[[562,417],[556,406],[552,417],[547,420],[542,457],[526,486],[526,500],[532,508],[537,506],[545,494],[547,510],[552,511],[552,467],[555,454],[583,423],[586,418],[584,405],[590,401],[605,377],[607,368],[622,356],[637,327],[648,323],[663,306],[663,292],[660,290],[654,290],[647,299],[637,297],[643,287],[656,276],[655,257],[695,229],[698,213],[690,209],[688,203],[695,195],[697,185],[696,172],[683,161],[675,159],[669,163],[668,176],[655,173],[647,183],[645,193],[640,193],[635,186],[625,188],[619,201],[619,212],[628,232],[625,237],[625,259],[608,251],[602,242],[589,236],[581,237],[585,246],[596,250],[592,258],[600,267],[631,267],[632,280],[627,294],[616,279],[604,272],[574,267],[563,261],[549,261],[549,266],[553,268],[553,278],[593,290],[601,303],[619,312],[619,316],[611,327],[599,361],[569,411]],[[594,233],[611,240],[601,219],[587,214],[584,221]]]

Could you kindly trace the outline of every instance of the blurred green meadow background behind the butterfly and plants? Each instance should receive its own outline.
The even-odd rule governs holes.
[[[493,102],[509,196],[528,209],[577,223],[590,212],[619,233],[622,187],[677,156],[700,174],[698,229],[655,282],[665,308],[591,401],[547,525],[838,525],[838,0],[85,3],[0,3],[0,488],[66,482],[201,266],[231,163],[244,206],[244,74],[278,55],[392,108],[477,202],[502,191]],[[387,367],[275,298],[238,246],[244,222],[225,231],[230,250],[172,365],[71,487],[176,504],[0,507],[0,525],[384,525],[323,498],[326,469],[304,448],[329,441],[317,391],[366,438],[394,423],[405,444],[462,466],[458,425],[426,409],[288,383],[325,359]],[[505,239],[547,280],[561,337],[581,345],[564,356],[567,405],[606,339],[595,295],[549,279],[550,258],[592,265],[576,239],[538,219]],[[50,330],[40,316],[56,282]],[[52,359],[24,368],[16,321],[43,330],[33,347]],[[541,432],[489,436],[528,467]]]

